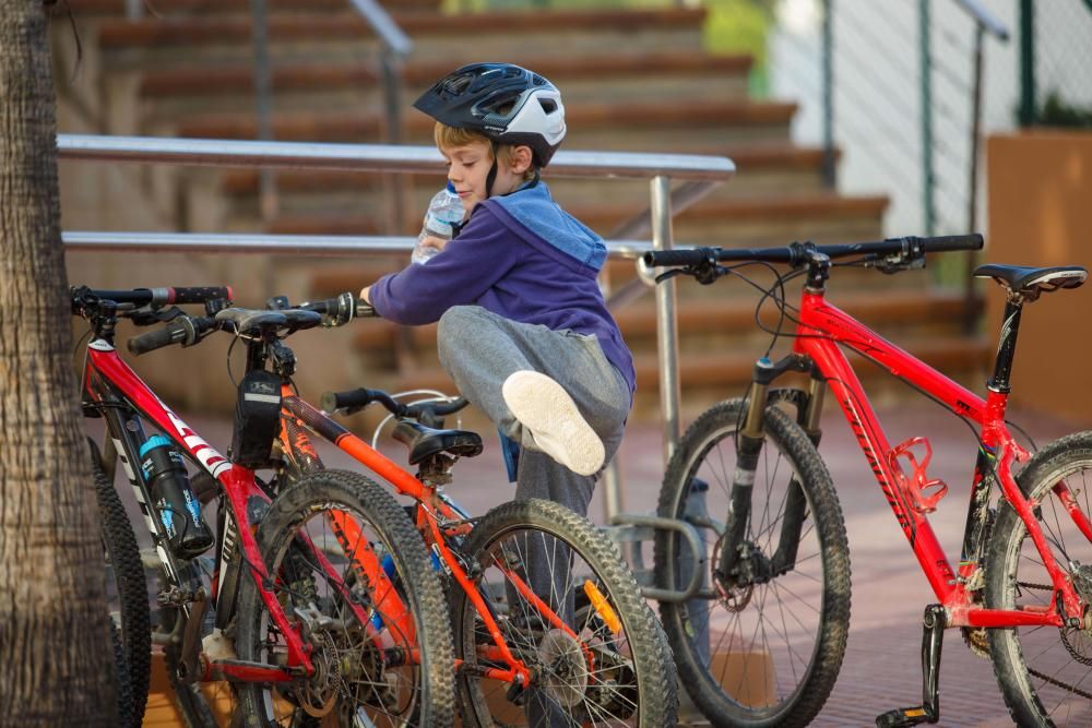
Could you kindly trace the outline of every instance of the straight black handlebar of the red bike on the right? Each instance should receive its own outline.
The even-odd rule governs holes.
[[[668,267],[684,265],[702,265],[727,261],[764,261],[768,263],[788,263],[797,266],[807,262],[810,252],[818,252],[828,258],[848,258],[851,255],[890,255],[898,253],[939,253],[956,250],[981,250],[982,236],[945,235],[931,238],[904,237],[889,238],[877,242],[854,242],[830,246],[814,246],[811,243],[794,242],[779,248],[686,248],[679,250],[651,250],[643,255],[649,267]]]

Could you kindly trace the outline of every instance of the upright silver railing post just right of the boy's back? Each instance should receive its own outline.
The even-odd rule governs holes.
[[[674,244],[670,179],[664,175],[657,175],[652,179],[651,188],[652,247],[655,250],[670,250]],[[664,417],[664,465],[666,466],[681,434],[679,423],[679,345],[675,320],[674,279],[656,286],[656,351],[660,362],[660,406]]]

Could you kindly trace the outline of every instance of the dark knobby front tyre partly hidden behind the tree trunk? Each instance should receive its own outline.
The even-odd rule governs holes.
[[[144,720],[147,685],[152,660],[152,630],[147,605],[147,583],[141,562],[140,547],[118,491],[99,464],[98,446],[91,445],[91,473],[95,481],[99,522],[103,526],[103,550],[106,563],[106,596],[110,617],[118,632],[121,664],[128,672],[123,682],[131,693],[128,716],[119,716],[127,726],[138,727]]]

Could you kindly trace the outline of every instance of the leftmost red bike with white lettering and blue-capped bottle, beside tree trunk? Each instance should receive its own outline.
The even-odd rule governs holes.
[[[122,564],[111,580],[122,643],[127,655],[135,656],[130,670],[143,690],[150,652],[146,587],[133,566],[135,541],[117,493],[103,497],[112,491],[118,460],[162,566],[161,624],[153,637],[164,648],[189,725],[215,725],[224,713],[225,719],[245,719],[248,726],[451,725],[454,663],[442,587],[405,511],[388,492],[351,473],[318,473],[275,497],[254,474],[270,466],[280,427],[280,387],[268,385],[270,377],[280,379],[265,367],[278,355],[280,337],[319,324],[320,314],[226,308],[226,288],[82,287],[73,288],[71,298],[73,313],[91,322],[83,408],[106,420],[104,456],[94,458],[94,469],[105,504],[108,566]],[[202,303],[206,315],[185,315],[176,303]],[[121,319],[136,325],[166,322],[130,339],[134,354],[192,345],[212,331],[246,343],[227,457],[121,360],[114,347]],[[194,521],[156,490],[157,476],[146,477],[156,473],[147,449],[156,435],[145,435],[147,425],[162,433],[156,449],[174,451],[163,461],[166,467],[177,462],[182,468],[185,457],[199,468],[194,479],[204,479],[217,493],[211,580],[200,568],[203,545],[186,538],[185,528],[193,528]],[[194,505],[187,498],[182,508]],[[182,533],[179,523],[187,524]],[[139,568],[139,553],[135,558]],[[360,565],[379,562],[381,570]],[[201,683],[219,690],[202,692]],[[140,719],[133,716],[133,724]]]

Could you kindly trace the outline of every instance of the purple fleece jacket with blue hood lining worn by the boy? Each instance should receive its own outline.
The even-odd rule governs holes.
[[[474,305],[521,323],[593,335],[632,395],[633,358],[595,279],[604,256],[598,236],[539,182],[478,204],[443,252],[383,276],[369,297],[381,317],[406,325]]]

